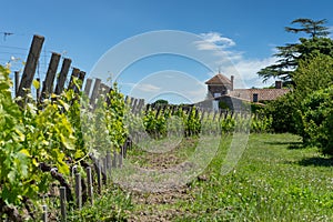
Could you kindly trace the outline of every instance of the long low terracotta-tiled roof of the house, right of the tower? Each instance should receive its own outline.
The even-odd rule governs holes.
[[[258,101],[269,101],[276,100],[287,92],[290,92],[289,89],[236,89],[231,91],[229,95],[253,101],[253,94],[258,94]]]

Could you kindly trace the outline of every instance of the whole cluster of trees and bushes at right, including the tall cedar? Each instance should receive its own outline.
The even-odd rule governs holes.
[[[333,40],[327,20],[301,18],[286,32],[305,33],[296,43],[278,47],[276,63],[258,72],[266,81],[280,79],[292,91],[269,103],[264,113],[273,118],[275,132],[302,137],[304,145],[315,145],[333,155]]]

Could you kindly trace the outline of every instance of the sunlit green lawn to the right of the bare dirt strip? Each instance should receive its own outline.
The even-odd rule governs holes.
[[[253,134],[236,169],[225,176],[216,170],[220,152],[206,171],[210,182],[196,182],[194,203],[182,204],[194,214],[186,219],[332,221],[333,161],[315,149],[291,149],[296,142],[290,134]],[[304,164],[312,159],[321,161]]]

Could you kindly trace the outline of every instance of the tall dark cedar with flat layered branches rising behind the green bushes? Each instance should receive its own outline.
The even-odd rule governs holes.
[[[333,40],[327,38],[330,32],[323,24],[326,20],[314,21],[311,19],[296,19],[292,24],[300,23],[301,28],[286,27],[287,32],[310,34],[310,38],[300,38],[299,43],[287,43],[283,47],[276,47],[279,58],[275,64],[261,69],[258,74],[265,82],[270,78],[278,78],[284,81],[284,84],[294,84],[293,72],[299,67],[299,62],[313,54],[327,54],[333,58]]]

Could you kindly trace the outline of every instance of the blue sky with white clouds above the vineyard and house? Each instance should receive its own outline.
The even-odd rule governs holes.
[[[17,0],[2,1],[0,63],[21,70],[33,34],[46,37],[37,77],[51,52],[72,59],[89,78],[117,81],[148,101],[195,102],[218,72],[236,88],[269,87],[256,72],[276,61],[275,47],[296,42],[284,27],[327,19],[329,0]],[[8,34],[10,33],[10,34]],[[2,37],[1,37],[2,36]],[[163,47],[161,47],[163,46]],[[59,65],[60,69],[61,65]]]

